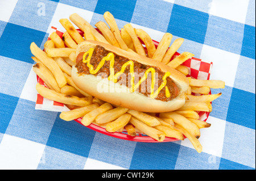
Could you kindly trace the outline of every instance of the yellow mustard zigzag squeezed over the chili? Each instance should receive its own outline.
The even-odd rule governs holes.
[[[102,66],[105,64],[105,61],[110,61],[110,66],[109,66],[110,75],[109,75],[108,79],[109,79],[109,81],[116,83],[118,77],[125,72],[126,67],[130,66],[130,75],[131,75],[130,92],[134,92],[135,90],[138,89],[139,85],[141,85],[141,83],[147,79],[148,73],[151,72],[150,98],[152,98],[152,99],[154,99],[156,96],[158,96],[159,92],[163,89],[164,86],[166,86],[166,83],[167,83],[166,78],[169,77],[171,74],[169,71],[167,71],[164,74],[164,76],[162,78],[163,82],[158,87],[158,89],[154,92],[154,87],[155,87],[155,69],[154,68],[148,68],[145,71],[144,76],[135,85],[134,84],[134,62],[132,60],[125,62],[125,64],[122,65],[121,70],[114,74],[114,54],[110,52],[110,53],[108,53],[107,56],[102,58],[102,60],[100,61],[100,64],[98,64],[97,68],[94,70],[93,65],[90,64],[90,59],[92,58],[93,50],[94,50],[93,48],[90,48],[82,56],[82,62],[84,62],[88,66],[90,74],[96,74],[102,68]],[[88,57],[86,58],[87,55],[88,55]],[[168,90],[168,87],[166,86],[166,97],[169,98],[170,96],[171,96],[170,91]]]

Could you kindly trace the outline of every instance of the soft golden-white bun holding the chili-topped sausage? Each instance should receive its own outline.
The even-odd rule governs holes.
[[[188,89],[189,85],[188,78],[185,77],[185,75],[165,64],[162,64],[159,61],[140,56],[137,53],[127,52],[120,48],[114,47],[113,45],[98,41],[86,40],[81,42],[77,46],[76,55],[78,55],[80,52],[87,52],[89,48],[95,48],[96,45],[100,45],[106,50],[109,50],[110,52],[113,52],[119,56],[129,58],[129,60],[135,60],[141,64],[156,66],[164,72],[170,71],[170,78],[179,88],[179,95],[175,99],[167,102],[151,99],[139,92],[130,92],[125,85],[121,86],[118,83],[109,81],[108,78],[102,79],[101,77],[92,74],[78,74],[77,68],[73,66],[72,79],[79,89],[88,92],[88,94],[96,96],[105,102],[142,112],[168,112],[177,110],[184,105],[184,92]],[[104,87],[104,90],[107,88],[109,91],[102,90],[102,87]]]

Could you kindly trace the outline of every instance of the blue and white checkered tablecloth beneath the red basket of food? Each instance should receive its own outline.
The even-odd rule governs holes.
[[[43,48],[51,26],[77,13],[94,26],[110,11],[156,41],[184,38],[179,52],[213,62],[210,79],[225,81],[191,142],[143,143],[106,136],[59,112],[35,110],[30,44]],[[255,169],[254,0],[0,0],[0,169]]]

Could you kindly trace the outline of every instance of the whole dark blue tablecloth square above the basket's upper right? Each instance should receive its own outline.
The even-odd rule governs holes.
[[[205,12],[174,5],[167,32],[203,44],[208,18]]]

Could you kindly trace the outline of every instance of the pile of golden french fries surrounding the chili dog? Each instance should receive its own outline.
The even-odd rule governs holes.
[[[101,33],[76,13],[70,15],[69,19],[60,19],[66,32],[62,38],[56,32],[51,33],[49,35],[51,40],[47,40],[44,44],[44,51],[35,43],[31,43],[30,46],[34,55],[31,58],[36,62],[33,70],[48,87],[38,83],[36,90],[44,98],[64,103],[70,110],[61,112],[60,118],[71,121],[82,117],[81,123],[85,126],[93,123],[100,125],[108,132],[122,132],[125,129],[130,136],[144,133],[157,141],[164,141],[165,137],[178,140],[184,140],[187,137],[200,153],[202,151],[198,140],[200,129],[208,128],[210,124],[200,120],[198,112],[212,111],[211,102],[221,93],[209,94],[210,89],[224,88],[224,82],[188,77],[189,89],[186,92],[184,106],[176,111],[158,114],[115,107],[80,90],[71,78],[72,66],[76,64],[77,44],[84,40],[112,44],[123,50],[163,62],[184,75],[188,75],[188,68],[181,64],[193,57],[192,53],[183,52],[170,61],[183,43],[183,39],[176,39],[171,44],[171,33],[165,33],[156,48],[151,37],[145,31],[133,28],[131,24],[126,24],[119,30],[114,16],[110,12],[104,14],[104,19],[109,27],[102,21],[95,24]],[[84,32],[84,36],[80,35],[71,22]],[[143,41],[144,47],[139,39]]]

